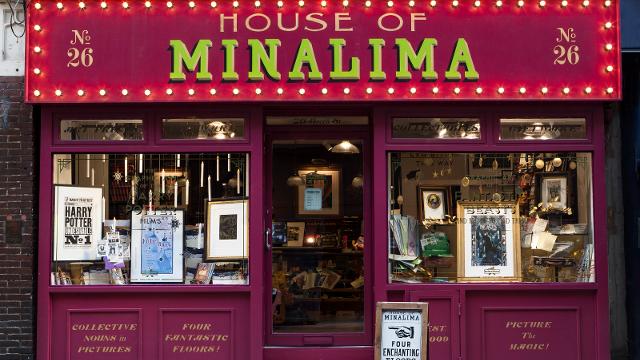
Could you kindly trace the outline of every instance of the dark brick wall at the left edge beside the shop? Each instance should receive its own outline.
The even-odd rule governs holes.
[[[0,359],[33,359],[37,156],[24,78],[0,77]]]

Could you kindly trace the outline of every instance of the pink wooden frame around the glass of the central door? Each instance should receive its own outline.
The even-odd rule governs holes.
[[[333,115],[333,113],[332,113]],[[364,115],[363,115],[364,116]],[[265,330],[265,346],[370,346],[373,344],[373,233],[372,224],[372,148],[371,148],[371,117],[369,125],[363,126],[334,126],[334,127],[318,127],[318,126],[267,126],[264,127],[264,330]],[[266,118],[266,116],[265,116]],[[335,130],[340,130],[340,136],[335,136]],[[268,248],[266,242],[271,242],[271,234],[267,234],[267,230],[271,229],[272,214],[272,144],[274,140],[326,140],[326,139],[358,139],[362,141],[362,176],[363,176],[363,212],[364,221],[364,272],[365,272],[365,289],[364,289],[364,331],[361,333],[292,333],[292,334],[274,334],[273,318],[271,311],[272,303],[272,277],[271,277],[271,249]],[[368,241],[367,241],[368,240]]]

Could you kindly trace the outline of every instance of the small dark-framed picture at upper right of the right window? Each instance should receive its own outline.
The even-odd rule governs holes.
[[[562,214],[563,222],[577,221],[578,206],[575,197],[575,175],[558,173],[536,174],[536,201],[545,208],[562,211],[571,208],[571,215]]]

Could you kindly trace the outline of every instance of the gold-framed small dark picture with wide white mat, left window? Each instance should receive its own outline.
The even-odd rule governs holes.
[[[207,202],[206,260],[249,256],[249,200]]]

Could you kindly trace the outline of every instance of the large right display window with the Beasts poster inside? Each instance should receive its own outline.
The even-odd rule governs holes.
[[[590,153],[389,154],[389,281],[593,282]]]

